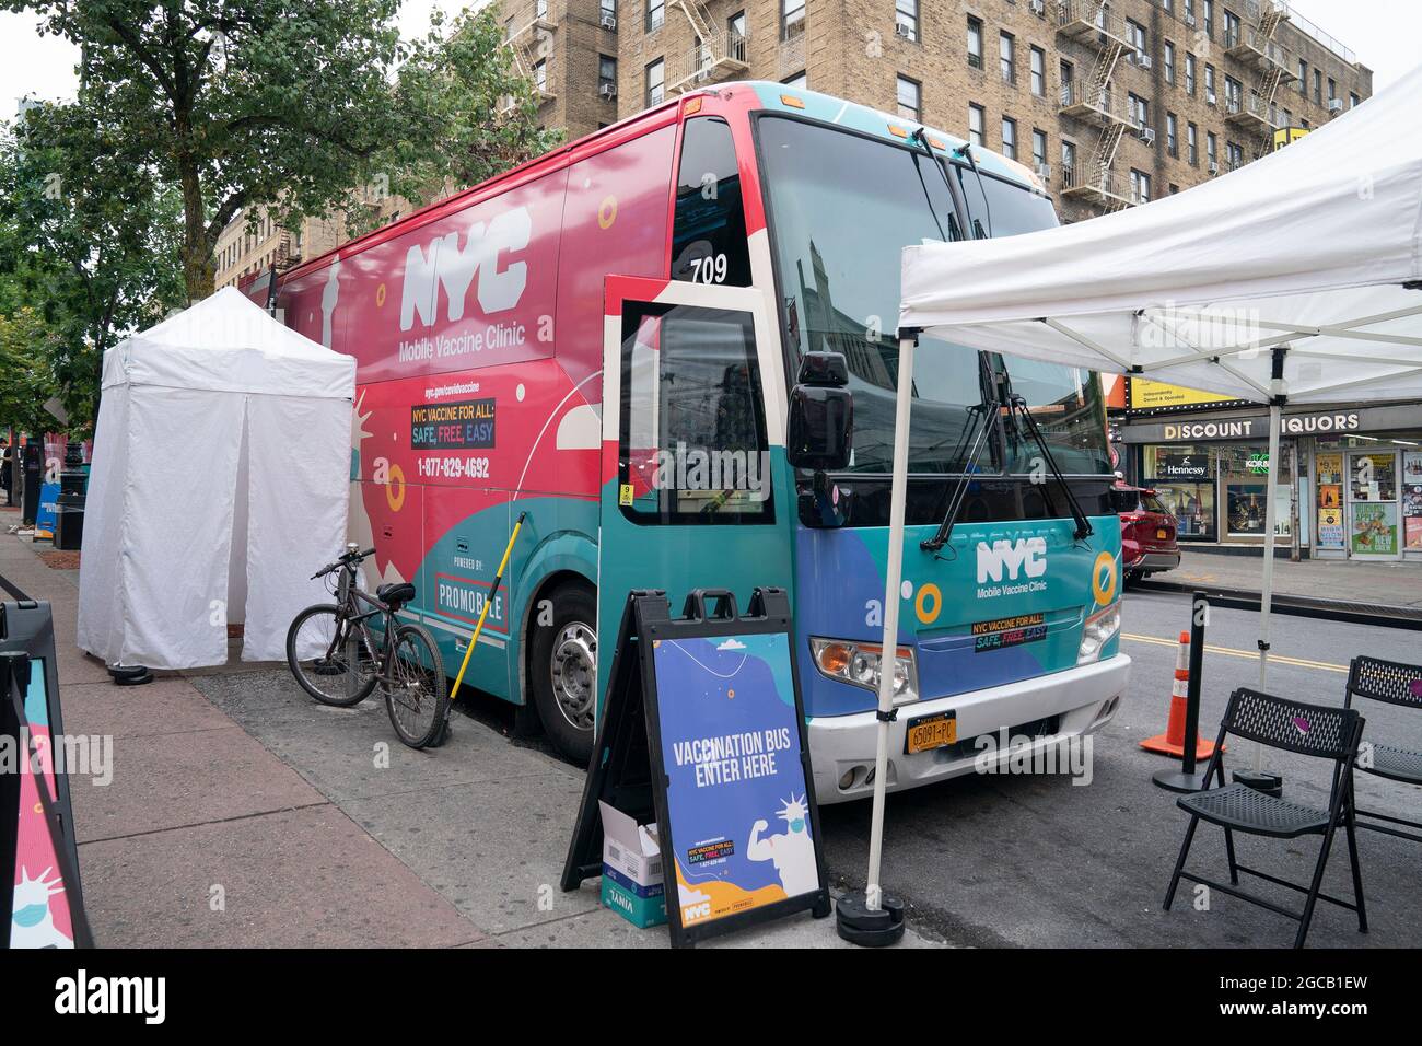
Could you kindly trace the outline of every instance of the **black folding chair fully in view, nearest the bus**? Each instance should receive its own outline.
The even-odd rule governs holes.
[[[1294,938],[1294,948],[1304,946],[1304,938],[1308,936],[1308,924],[1314,918],[1314,904],[1317,901],[1328,901],[1340,908],[1357,912],[1358,932],[1367,934],[1368,914],[1362,901],[1362,875],[1358,871],[1358,840],[1354,831],[1352,801],[1352,764],[1358,754],[1358,741],[1362,737],[1362,716],[1358,714],[1357,709],[1304,704],[1303,702],[1284,700],[1283,697],[1274,697],[1273,694],[1250,690],[1249,687],[1241,687],[1231,693],[1230,704],[1224,710],[1224,722],[1220,723],[1220,736],[1214,743],[1214,756],[1210,759],[1210,766],[1204,773],[1204,783],[1209,784],[1212,777],[1217,777],[1219,787],[1176,800],[1176,805],[1190,814],[1190,827],[1185,830],[1180,857],[1175,862],[1170,889],[1165,895],[1165,909],[1170,911],[1170,904],[1175,901],[1175,891],[1180,885],[1180,879],[1189,879],[1190,882],[1199,882],[1210,889],[1219,889],[1230,897],[1237,897],[1241,901],[1249,901],[1260,908],[1267,908],[1271,912],[1278,912],[1294,919],[1298,922],[1298,935]],[[1334,770],[1332,786],[1328,793],[1328,810],[1315,810],[1300,803],[1274,798],[1263,791],[1256,791],[1247,784],[1226,784],[1221,760],[1226,734],[1258,741],[1270,749],[1332,760]],[[1216,882],[1185,870],[1185,858],[1190,852],[1190,842],[1194,840],[1194,830],[1200,821],[1209,821],[1224,828],[1224,850],[1229,855],[1231,885],[1224,885],[1223,882]],[[1340,825],[1344,827],[1348,835],[1354,904],[1320,892],[1324,881],[1324,867],[1328,864],[1328,851],[1332,847],[1334,830]],[[1293,840],[1300,835],[1322,835],[1324,841],[1318,850],[1318,864],[1314,865],[1313,882],[1303,887],[1256,868],[1246,868],[1234,860],[1236,831],[1280,840]],[[1304,894],[1308,898],[1304,902],[1304,911],[1295,912],[1273,901],[1239,889],[1240,872]]]

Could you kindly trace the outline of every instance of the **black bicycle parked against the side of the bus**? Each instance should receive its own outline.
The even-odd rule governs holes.
[[[311,575],[316,581],[340,572],[336,602],[296,615],[286,633],[286,663],[303,690],[337,709],[360,704],[378,685],[400,740],[427,749],[444,740],[449,724],[444,660],[422,625],[397,619],[414,601],[414,585],[381,585],[374,596],[361,591],[356,571],[374,554],[347,545],[340,559]]]

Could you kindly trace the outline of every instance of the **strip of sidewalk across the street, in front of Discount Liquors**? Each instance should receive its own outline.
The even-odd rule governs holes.
[[[1229,555],[1180,549],[1180,565],[1155,574],[1150,582],[1182,588],[1220,588],[1258,595],[1263,555]],[[1300,599],[1357,603],[1388,613],[1399,608],[1422,612],[1422,564],[1359,562],[1357,559],[1274,561],[1274,593]]]

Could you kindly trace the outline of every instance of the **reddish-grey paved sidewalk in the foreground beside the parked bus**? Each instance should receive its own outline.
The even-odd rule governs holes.
[[[114,739],[112,783],[71,787],[101,946],[668,945],[600,908],[596,879],[557,889],[574,767],[465,716],[405,749],[380,700],[317,704],[236,650],[117,687],[74,648],[78,571],[46,548],[0,532],[0,575],[54,608],[67,733]],[[849,946],[808,914],[714,944]]]

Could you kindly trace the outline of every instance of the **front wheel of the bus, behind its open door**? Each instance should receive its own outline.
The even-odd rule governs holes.
[[[553,625],[535,625],[529,649],[533,702],[557,750],[586,766],[597,706],[597,596],[569,583],[552,601]]]

